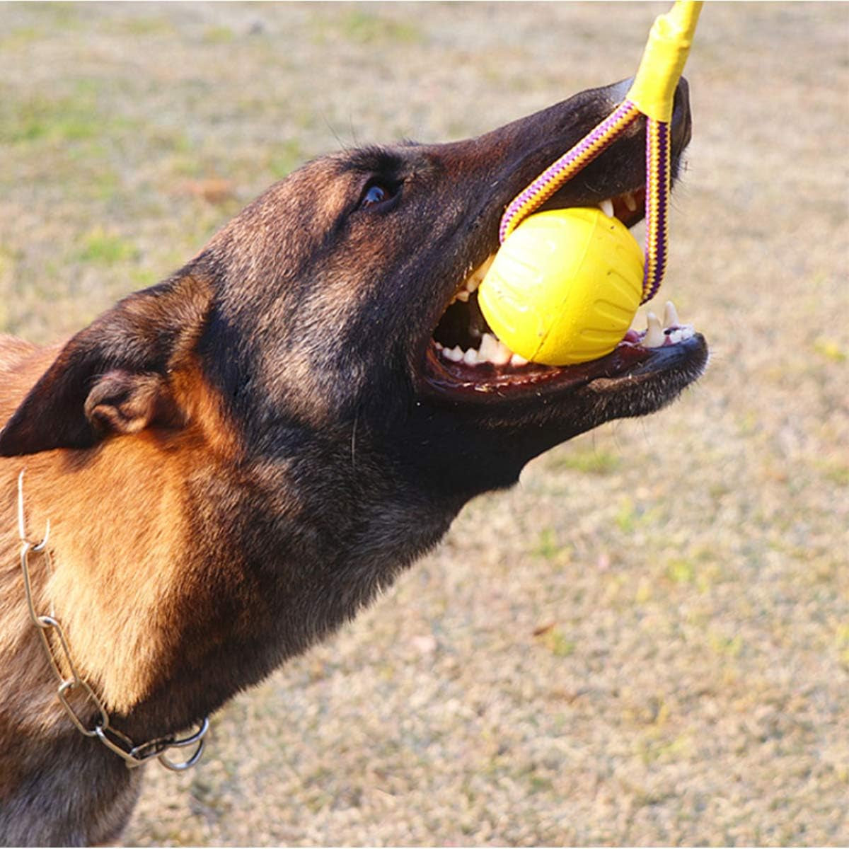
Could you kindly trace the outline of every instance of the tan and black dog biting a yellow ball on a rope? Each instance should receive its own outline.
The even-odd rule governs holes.
[[[115,841],[132,767],[354,616],[469,498],[700,376],[695,332],[565,368],[451,353],[487,333],[469,290],[505,206],[627,85],[313,160],[65,344],[0,340],[0,841]],[[690,126],[682,82],[676,172]],[[612,200],[633,226],[644,139],[546,208]]]

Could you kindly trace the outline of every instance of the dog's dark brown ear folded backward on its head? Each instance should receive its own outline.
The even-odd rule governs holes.
[[[180,424],[171,375],[194,351],[211,286],[183,273],[137,292],[74,336],[0,430],[0,456],[87,448]]]

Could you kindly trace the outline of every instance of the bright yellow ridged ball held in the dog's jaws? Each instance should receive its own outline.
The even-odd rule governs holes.
[[[643,295],[643,249],[617,218],[575,207],[528,216],[504,239],[478,292],[500,340],[534,363],[610,353]]]

